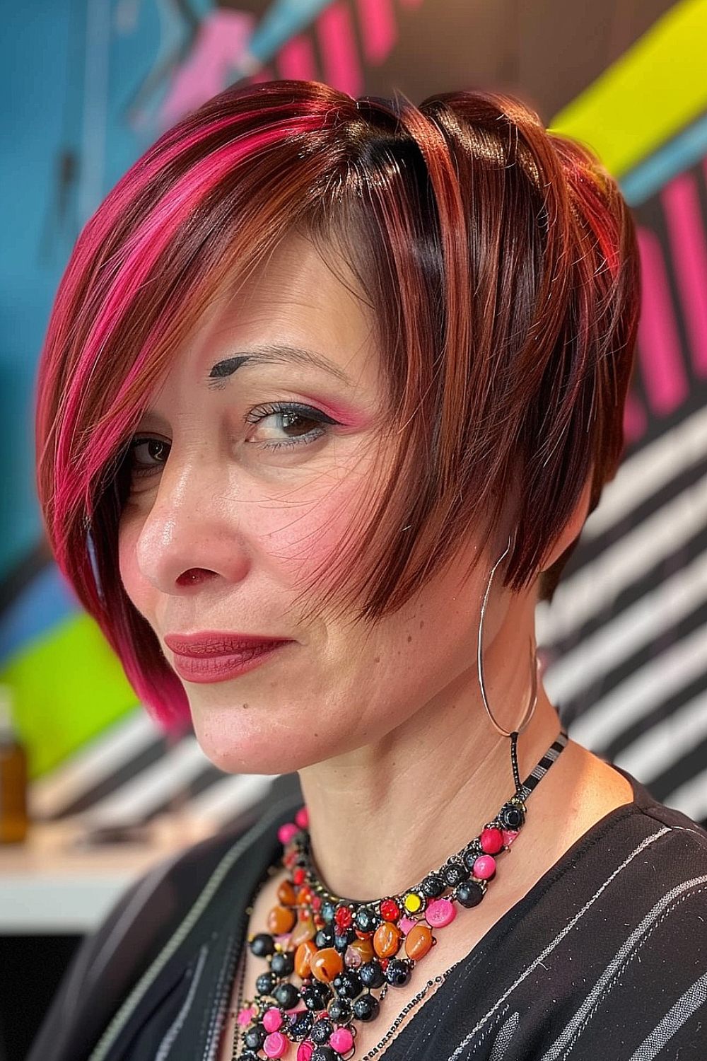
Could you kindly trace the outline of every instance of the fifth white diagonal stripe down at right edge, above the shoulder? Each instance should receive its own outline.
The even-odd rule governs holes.
[[[706,737],[707,693],[701,693],[624,748],[616,763],[650,784]]]

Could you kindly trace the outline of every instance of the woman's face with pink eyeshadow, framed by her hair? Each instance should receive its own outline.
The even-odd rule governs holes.
[[[469,554],[375,624],[326,603],[375,501],[385,407],[367,308],[293,239],[176,351],[141,420],[121,576],[225,770],[378,742],[471,680]]]

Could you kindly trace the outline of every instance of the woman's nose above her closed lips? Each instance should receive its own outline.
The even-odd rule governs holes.
[[[214,462],[179,465],[173,457],[136,540],[142,576],[170,594],[242,580],[250,567],[245,504],[234,495],[228,471]]]

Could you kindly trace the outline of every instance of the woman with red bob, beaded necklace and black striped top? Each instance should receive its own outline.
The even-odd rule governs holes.
[[[34,1058],[704,1056],[707,838],[567,743],[534,648],[637,314],[615,184],[505,98],[229,90],[121,180],[43,353],[49,536],[144,702],[299,770],[308,829],[138,885]]]

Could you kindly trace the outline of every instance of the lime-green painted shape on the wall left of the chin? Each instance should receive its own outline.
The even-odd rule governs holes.
[[[30,642],[0,671],[37,777],[135,710],[137,697],[88,615],[72,615]]]

